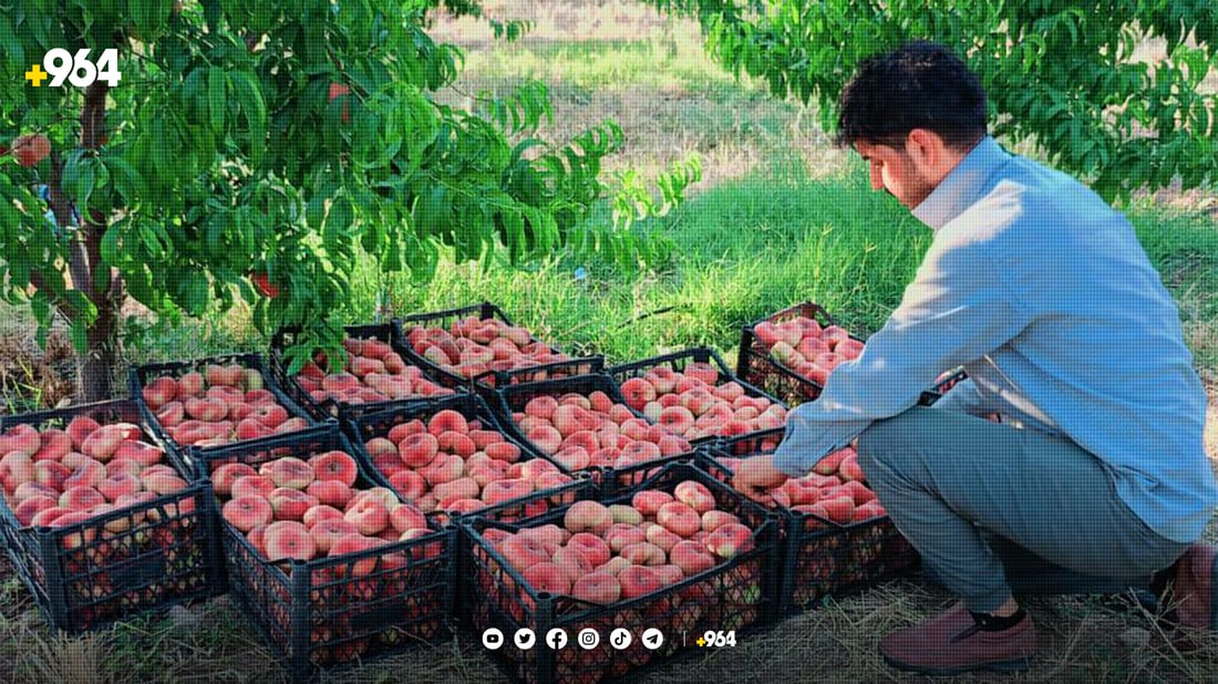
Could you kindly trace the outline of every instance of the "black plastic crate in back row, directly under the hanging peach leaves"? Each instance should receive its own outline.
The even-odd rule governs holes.
[[[368,400],[361,402],[343,402],[333,397],[314,398],[308,391],[304,389],[304,387],[301,386],[301,381],[297,380],[296,376],[287,374],[289,363],[287,359],[284,358],[284,349],[296,343],[298,331],[279,330],[270,340],[270,359],[273,361],[272,368],[275,376],[284,387],[284,391],[286,391],[300,405],[308,409],[318,420],[324,420],[326,417],[353,416],[398,402],[429,402],[440,397],[451,396],[453,393],[463,393],[466,391],[466,386],[469,383],[468,381],[457,381],[449,375],[436,374],[434,369],[418,364],[414,355],[407,352],[401,337],[398,336],[398,329],[392,323],[350,325],[345,327],[343,331],[346,332],[347,340],[376,340],[389,344],[390,351],[402,359],[402,363],[407,369],[418,369],[420,377],[435,386],[435,392],[396,398],[380,392],[382,394],[381,399],[373,400],[371,397],[369,397]],[[343,370],[346,372],[351,372],[350,369],[345,368]],[[389,375],[402,375],[404,372],[408,371],[402,370],[397,374]],[[361,380],[361,387],[368,387],[368,385]]]

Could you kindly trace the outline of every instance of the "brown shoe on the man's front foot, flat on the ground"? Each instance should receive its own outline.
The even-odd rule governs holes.
[[[971,669],[1018,672],[1028,668],[1035,651],[1037,633],[1030,616],[1001,632],[985,632],[963,602],[879,641],[879,652],[889,665],[923,674],[959,674]]]

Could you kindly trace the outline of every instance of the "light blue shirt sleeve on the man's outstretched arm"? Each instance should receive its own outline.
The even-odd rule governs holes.
[[[806,473],[873,421],[915,405],[944,370],[982,358],[1028,325],[984,246],[940,241],[942,234],[862,354],[833,371],[818,399],[787,415],[775,452],[781,471]]]

